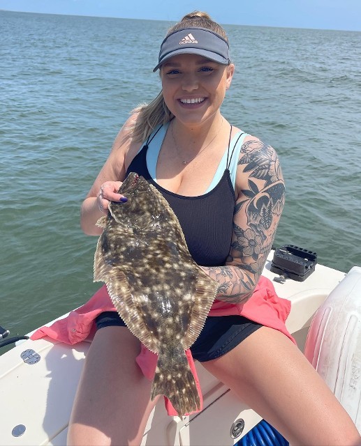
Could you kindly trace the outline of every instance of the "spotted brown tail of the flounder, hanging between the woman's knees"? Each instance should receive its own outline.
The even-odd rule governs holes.
[[[167,397],[179,417],[200,410],[200,397],[196,380],[191,372],[182,346],[159,352],[151,399],[156,395]]]

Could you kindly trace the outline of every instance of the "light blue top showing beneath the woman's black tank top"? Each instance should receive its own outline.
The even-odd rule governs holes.
[[[159,126],[154,130],[153,134],[154,133],[156,133],[156,134],[152,138],[152,140],[149,142],[149,146],[148,146],[148,150],[147,150],[147,157],[146,157],[147,169],[149,171],[149,175],[152,177],[152,179],[155,182],[157,182],[156,181],[156,162],[158,161],[159,152],[161,151],[161,146],[163,144],[163,139],[165,137],[165,133],[168,130],[168,125],[169,125],[169,123],[166,123],[165,125],[163,125],[162,128],[157,133],[156,133],[156,130],[159,129]],[[214,187],[216,187],[216,185],[221,180],[224,171],[227,169],[227,159],[229,160],[229,157],[231,154],[233,154],[233,155],[230,160],[228,169],[230,171],[230,180],[232,181],[233,187],[235,187],[235,178],[236,178],[236,174],[237,174],[238,160],[240,158],[240,151],[241,151],[241,147],[242,147],[244,138],[247,136],[247,134],[244,133],[240,137],[240,134],[242,134],[242,132],[237,132],[237,134],[235,134],[232,141],[230,141],[229,151],[228,150],[224,151],[223,157],[222,157],[221,161],[219,162],[219,166],[217,167],[216,173],[214,174],[214,177],[213,177],[209,187],[207,188],[205,194],[207,194],[207,192],[214,189]],[[229,155],[228,155],[228,153],[229,153]]]

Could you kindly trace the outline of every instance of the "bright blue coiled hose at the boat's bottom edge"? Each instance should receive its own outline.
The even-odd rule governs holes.
[[[289,446],[290,443],[265,420],[254,426],[235,446]]]

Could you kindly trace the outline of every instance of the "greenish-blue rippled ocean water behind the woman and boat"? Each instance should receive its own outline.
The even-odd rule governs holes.
[[[86,302],[84,196],[128,113],[159,93],[168,22],[0,11],[0,325],[24,334]],[[361,265],[361,33],[225,26],[223,114],[279,153],[275,245]]]

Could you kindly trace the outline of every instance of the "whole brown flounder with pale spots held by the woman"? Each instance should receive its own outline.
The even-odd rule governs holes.
[[[167,397],[179,416],[200,409],[185,351],[196,341],[218,284],[193,261],[175,213],[145,178],[130,173],[110,202],[94,256],[94,282],[105,282],[129,330],[159,355],[151,399]]]

